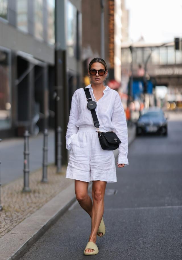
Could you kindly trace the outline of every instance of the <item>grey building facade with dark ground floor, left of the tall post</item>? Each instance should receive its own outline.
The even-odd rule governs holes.
[[[49,125],[54,1],[0,0],[0,135]],[[51,80],[52,78],[52,80]]]

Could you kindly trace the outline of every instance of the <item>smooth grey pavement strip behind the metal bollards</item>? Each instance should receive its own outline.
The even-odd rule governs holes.
[[[43,133],[29,138],[30,172],[42,167]],[[23,176],[24,138],[16,137],[0,142],[1,184],[4,185]],[[54,162],[54,131],[48,135],[48,163]]]

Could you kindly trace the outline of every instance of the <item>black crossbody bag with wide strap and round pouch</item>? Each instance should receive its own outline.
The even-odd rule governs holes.
[[[102,149],[104,149],[104,150],[115,150],[115,149],[117,149],[119,147],[119,143],[121,143],[121,141],[119,140],[119,138],[117,137],[117,135],[114,131],[109,131],[109,132],[99,131],[99,125],[100,124],[99,124],[97,114],[96,114],[96,111],[95,111],[97,104],[96,104],[95,101],[92,100],[89,89],[84,87],[84,91],[85,91],[86,99],[88,101],[87,108],[92,113],[94,126],[98,130],[96,132],[98,133],[98,137],[99,137],[99,141],[100,141],[100,145],[101,145]]]

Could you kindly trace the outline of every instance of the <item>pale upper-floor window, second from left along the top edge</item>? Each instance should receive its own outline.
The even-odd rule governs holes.
[[[28,1],[17,1],[17,27],[25,32],[28,32]]]

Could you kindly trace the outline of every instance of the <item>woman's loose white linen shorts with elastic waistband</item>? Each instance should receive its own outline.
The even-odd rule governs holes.
[[[106,132],[102,128],[99,130]],[[79,127],[70,146],[66,178],[117,182],[114,153],[101,148],[95,127]]]

